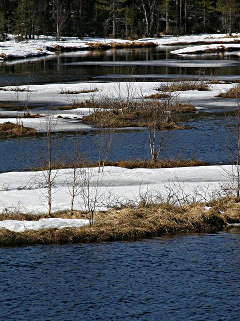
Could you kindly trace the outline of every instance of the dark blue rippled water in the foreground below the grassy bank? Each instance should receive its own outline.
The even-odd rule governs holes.
[[[2,320],[239,320],[240,229],[0,248]]]

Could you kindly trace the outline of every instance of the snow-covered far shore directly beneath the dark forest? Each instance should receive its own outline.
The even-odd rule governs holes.
[[[191,36],[163,36],[161,38],[141,38],[136,41],[125,39],[111,39],[100,37],[85,37],[77,39],[62,37],[63,41],[56,41],[54,37],[38,36],[35,40],[15,42],[9,35],[8,41],[0,43],[0,61],[19,58],[29,58],[43,55],[51,55],[64,51],[87,51],[114,48],[141,48],[150,46],[189,46],[204,44],[199,47],[172,51],[173,54],[204,53],[232,51],[240,49],[240,35],[233,34],[232,38],[225,38],[224,34],[203,34]],[[148,44],[148,45],[147,45]],[[195,49],[194,49],[195,48]]]

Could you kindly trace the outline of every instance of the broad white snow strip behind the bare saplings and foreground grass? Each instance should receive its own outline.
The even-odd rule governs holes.
[[[231,165],[186,167],[173,169],[125,169],[119,167],[105,167],[103,174],[98,169],[89,169],[91,179],[99,179],[101,192],[105,199],[109,196],[114,200],[136,199],[139,195],[139,186],[142,190],[159,191],[166,193],[166,184],[179,182],[185,193],[192,193],[198,186],[207,188],[208,192],[219,187],[222,182],[229,182],[225,171],[231,171]],[[91,172],[92,171],[92,172]],[[53,171],[53,174],[55,172]],[[52,212],[69,209],[70,195],[66,184],[66,175],[72,170],[59,170],[54,188],[52,188]],[[46,189],[42,188],[42,172],[10,172],[0,174],[0,211],[5,208],[17,208],[23,213],[46,213]],[[178,184],[178,183],[177,183]],[[74,209],[82,210],[82,199],[76,197]],[[106,205],[98,206],[106,209]]]

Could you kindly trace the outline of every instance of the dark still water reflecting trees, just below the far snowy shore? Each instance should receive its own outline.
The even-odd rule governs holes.
[[[218,53],[209,55],[194,55],[187,56],[187,60],[193,63],[192,67],[179,67],[175,63],[174,66],[164,66],[166,60],[179,61],[183,63],[186,60],[184,56],[171,55],[169,52],[174,49],[182,47],[156,47],[156,48],[138,48],[138,49],[118,49],[108,51],[94,51],[94,52],[73,52],[62,53],[41,58],[32,58],[21,61],[11,61],[7,63],[0,63],[0,84],[16,83],[23,84],[26,82],[31,83],[58,83],[58,82],[77,82],[77,81],[91,81],[95,77],[104,77],[108,75],[128,75],[132,73],[129,67],[117,66],[69,66],[64,65],[68,63],[77,63],[87,61],[92,62],[127,62],[127,61],[158,61],[158,66],[154,65],[140,65],[134,68],[134,74],[142,75],[143,80],[147,75],[153,75],[148,80],[156,79],[156,75],[159,75],[159,79],[162,79],[162,75],[167,77],[168,75],[194,75],[202,74],[205,72],[210,75],[239,75],[240,65],[238,64],[239,58],[237,56],[230,56],[228,53]],[[217,67],[211,64],[209,68],[201,67],[201,64],[194,65],[194,62],[202,60],[234,60],[237,65],[221,66]],[[162,64],[161,64],[162,62]],[[116,76],[114,76],[116,77]]]

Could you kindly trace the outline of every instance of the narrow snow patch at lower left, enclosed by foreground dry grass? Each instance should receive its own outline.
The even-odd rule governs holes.
[[[0,229],[5,228],[13,232],[24,232],[26,230],[49,228],[62,229],[64,227],[82,227],[86,224],[89,224],[88,220],[60,218],[40,219],[39,221],[5,220],[0,221]]]

